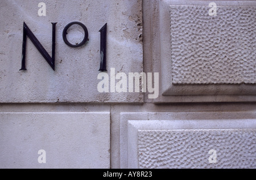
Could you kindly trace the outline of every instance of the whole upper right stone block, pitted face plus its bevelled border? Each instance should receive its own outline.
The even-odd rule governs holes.
[[[216,1],[216,16],[210,3],[145,5],[144,69],[160,73],[155,103],[256,100],[256,1]]]

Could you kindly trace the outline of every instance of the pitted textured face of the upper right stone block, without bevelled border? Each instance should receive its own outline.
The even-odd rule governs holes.
[[[209,9],[170,6],[172,83],[255,84],[256,7]]]

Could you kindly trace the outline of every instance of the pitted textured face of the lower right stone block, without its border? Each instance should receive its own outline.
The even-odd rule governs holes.
[[[256,168],[255,143],[255,129],[138,130],[139,168]]]

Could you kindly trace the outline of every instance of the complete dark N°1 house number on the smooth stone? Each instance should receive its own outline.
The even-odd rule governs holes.
[[[20,68],[21,70],[27,70],[26,69],[26,44],[27,44],[27,37],[30,38],[30,40],[32,41],[32,43],[34,44],[34,46],[36,47],[36,49],[39,50],[40,54],[43,55],[44,59],[46,59],[46,61],[48,62],[49,66],[52,67],[52,69],[55,71],[55,32],[56,32],[56,24],[57,23],[52,23],[52,57],[47,53],[46,49],[44,49],[43,45],[39,42],[38,38],[35,37],[34,33],[32,33],[32,31],[30,30],[30,28],[28,28],[27,24],[24,22],[23,23],[23,43],[22,43],[22,67]],[[80,25],[82,27],[82,29],[84,29],[85,35],[84,35],[84,39],[82,40],[82,42],[80,42],[79,44],[71,44],[68,40],[67,40],[67,31],[68,29],[74,25]],[[107,29],[107,23],[100,29],[100,33],[101,33],[101,43],[100,43],[100,70],[99,71],[106,71],[106,29]],[[67,44],[68,46],[72,47],[72,48],[79,48],[82,45],[84,45],[88,40],[89,40],[89,33],[88,33],[88,29],[86,28],[86,26],[80,22],[71,22],[68,25],[66,25],[66,27],[63,30],[63,40],[65,42],[65,44]]]

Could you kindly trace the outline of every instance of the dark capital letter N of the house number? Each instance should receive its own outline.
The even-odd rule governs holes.
[[[26,69],[26,45],[27,45],[27,37],[30,38],[36,49],[43,55],[44,59],[48,62],[48,64],[55,71],[55,29],[57,23],[52,23],[52,57],[47,53],[46,49],[42,46],[42,44],[38,41],[35,35],[31,32],[30,28],[28,28],[27,24],[23,23],[23,43],[22,43],[22,68],[21,70]]]

